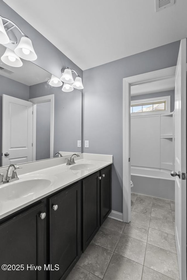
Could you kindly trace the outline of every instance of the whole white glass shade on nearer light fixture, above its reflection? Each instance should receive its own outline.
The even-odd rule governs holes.
[[[32,41],[28,37],[21,37],[18,46],[15,48],[15,53],[25,60],[36,60],[37,55],[32,46]]]

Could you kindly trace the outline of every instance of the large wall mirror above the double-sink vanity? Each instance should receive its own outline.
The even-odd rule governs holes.
[[[0,57],[6,48],[0,45]],[[51,74],[0,60],[1,166],[81,153],[82,92],[49,85]]]

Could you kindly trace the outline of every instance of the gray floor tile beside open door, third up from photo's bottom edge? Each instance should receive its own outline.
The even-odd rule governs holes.
[[[175,236],[173,234],[150,228],[147,243],[176,253]]]

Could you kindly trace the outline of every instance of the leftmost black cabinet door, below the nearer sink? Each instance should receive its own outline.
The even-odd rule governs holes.
[[[0,225],[0,264],[24,265],[24,270],[3,271],[3,280],[44,280],[45,220],[40,218],[44,204],[12,218]],[[28,265],[40,265],[41,271],[28,269]],[[18,266],[16,269],[20,269]]]

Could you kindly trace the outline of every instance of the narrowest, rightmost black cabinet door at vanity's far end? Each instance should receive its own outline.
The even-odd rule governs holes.
[[[101,170],[101,225],[111,212],[111,165]]]

